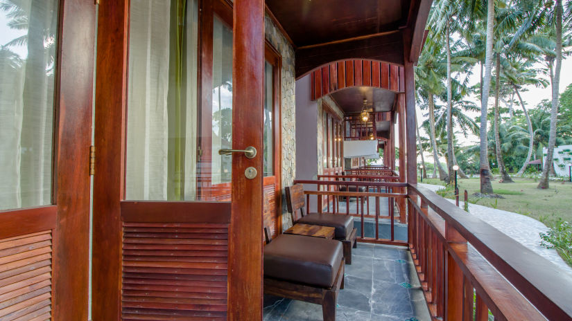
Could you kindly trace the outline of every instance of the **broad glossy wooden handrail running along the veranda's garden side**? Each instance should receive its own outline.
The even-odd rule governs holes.
[[[444,219],[446,226],[465,238],[544,317],[549,320],[572,320],[572,278],[564,271],[435,192],[417,184],[410,184],[409,187],[409,194],[417,194],[422,204],[435,211]],[[517,300],[517,297],[504,299]]]

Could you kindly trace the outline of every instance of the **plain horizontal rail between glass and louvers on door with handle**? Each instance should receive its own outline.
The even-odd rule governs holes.
[[[131,223],[230,223],[230,203],[122,201],[121,221]]]

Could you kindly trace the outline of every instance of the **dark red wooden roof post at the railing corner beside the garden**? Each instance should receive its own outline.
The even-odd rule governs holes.
[[[415,134],[415,74],[413,62],[405,63],[407,182],[417,183],[417,145]]]

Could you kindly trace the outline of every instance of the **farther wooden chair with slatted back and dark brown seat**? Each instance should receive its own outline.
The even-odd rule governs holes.
[[[344,214],[305,214],[306,201],[302,184],[286,187],[286,204],[288,205],[288,212],[291,214],[293,224],[304,223],[336,228],[334,239],[341,241],[343,244],[345,263],[352,264],[352,248],[357,247],[357,230],[354,228],[354,219],[351,216]]]

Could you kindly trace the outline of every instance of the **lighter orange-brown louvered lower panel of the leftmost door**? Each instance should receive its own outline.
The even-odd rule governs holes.
[[[51,230],[0,239],[0,320],[50,320]]]

